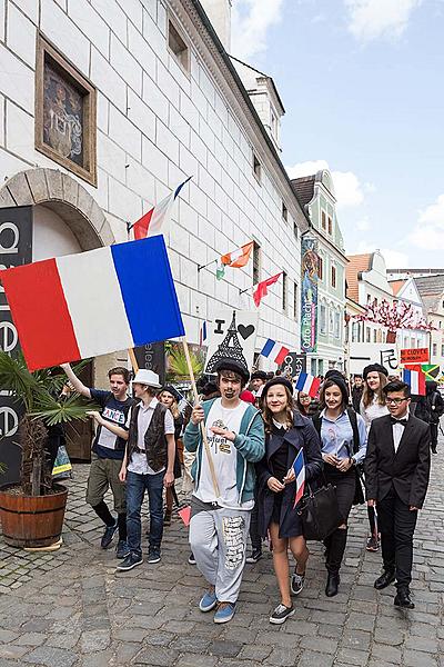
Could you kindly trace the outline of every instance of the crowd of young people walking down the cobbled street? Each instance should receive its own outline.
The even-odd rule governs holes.
[[[63,369],[73,388],[101,407],[91,411],[97,434],[87,501],[104,524],[101,547],[109,548],[119,535],[119,571],[143,563],[145,491],[148,563],[161,559],[163,529],[178,501],[174,481],[183,470],[191,491],[190,563],[208,583],[199,608],[215,610],[214,623],[233,617],[245,561],[262,557],[264,540],[280,594],[270,623],[282,624],[294,614],[310,557],[303,507],[307,495],[315,498],[325,488],[334,490],[337,514],[323,536],[325,595],[334,597],[340,589],[350,511],[366,502],[366,548],[382,552],[383,571],[374,586],[395,583],[394,604],[414,607],[413,535],[444,411],[436,384],[427,382],[425,397],[412,397],[408,385],[373,364],[352,378],[351,387],[340,370],[329,370],[312,397],[296,392],[291,378],[264,371],[250,376],[238,360],[225,358],[191,406],[173,386],[161,387],[151,370],[138,371],[132,398],[124,368],[109,371],[108,391],[85,387],[69,365]],[[109,488],[117,516],[104,501]]]

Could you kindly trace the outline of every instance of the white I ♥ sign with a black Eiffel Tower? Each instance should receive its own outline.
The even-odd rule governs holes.
[[[226,358],[235,359],[251,370],[258,320],[258,312],[229,308],[220,310],[212,321],[208,322],[205,372],[214,374],[218,361]]]

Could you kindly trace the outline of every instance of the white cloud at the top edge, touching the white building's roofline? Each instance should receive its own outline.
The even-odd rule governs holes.
[[[231,52],[250,60],[266,50],[268,30],[281,20],[283,0],[236,0],[232,10]]]

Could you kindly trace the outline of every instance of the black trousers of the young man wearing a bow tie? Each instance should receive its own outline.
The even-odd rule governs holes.
[[[384,569],[394,570],[396,587],[407,588],[412,581],[413,534],[417,511],[410,511],[394,487],[377,504],[381,549]]]

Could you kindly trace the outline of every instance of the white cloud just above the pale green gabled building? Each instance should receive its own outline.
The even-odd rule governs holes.
[[[326,160],[307,160],[286,168],[290,178],[310,176],[316,173],[320,169],[329,169]],[[374,191],[371,183],[364,183],[363,186],[353,171],[332,171],[332,177],[337,208],[360,206],[364,201],[364,190]]]

